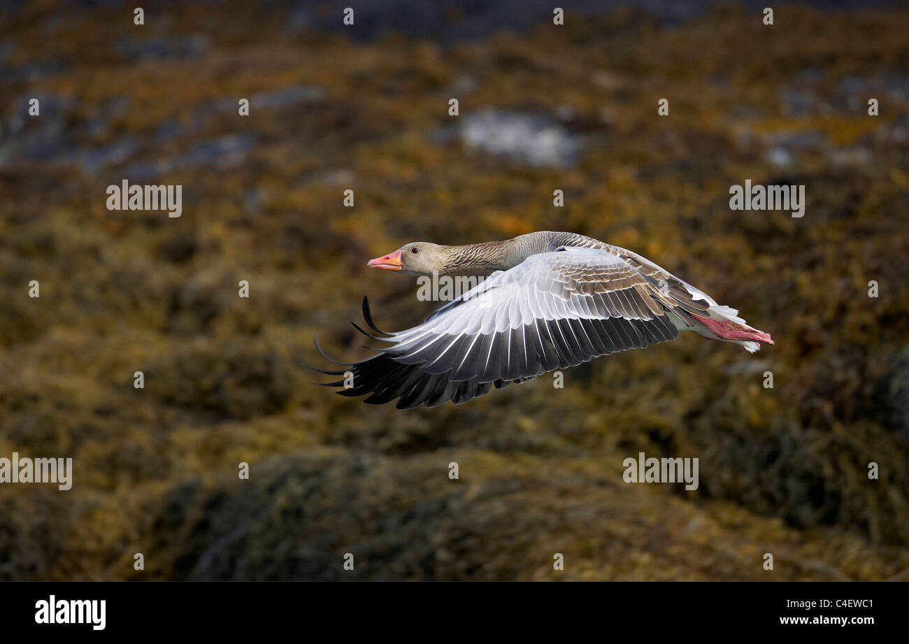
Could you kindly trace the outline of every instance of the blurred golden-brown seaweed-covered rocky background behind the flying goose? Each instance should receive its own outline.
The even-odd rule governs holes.
[[[905,5],[135,5],[0,14],[0,456],[75,470],[0,486],[0,579],[909,578]],[[107,210],[123,179],[183,216]],[[745,179],[806,186],[804,217],[731,211]],[[776,345],[686,334],[412,411],[300,366],[315,332],[369,355],[364,295],[383,328],[435,307],[368,258],[544,229]],[[699,487],[624,483],[639,451]]]

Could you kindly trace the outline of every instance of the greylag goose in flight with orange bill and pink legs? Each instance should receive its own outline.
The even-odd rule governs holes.
[[[734,308],[649,259],[577,233],[540,231],[466,246],[411,242],[366,266],[408,276],[487,276],[423,324],[394,333],[375,326],[364,297],[365,322],[379,335],[352,324],[388,346],[360,362],[328,357],[314,336],[319,353],[344,367],[310,367],[344,377],[322,384],[340,387],[342,396],[368,394],[364,402],[374,405],[460,404],[681,331],[751,353],[774,344]]]

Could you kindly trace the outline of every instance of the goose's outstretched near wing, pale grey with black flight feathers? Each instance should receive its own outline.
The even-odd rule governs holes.
[[[637,259],[611,248],[581,247],[528,257],[487,277],[423,324],[375,338],[389,346],[349,365],[354,386],[338,393],[372,393],[365,400],[370,403],[400,397],[399,408],[464,402],[493,386],[673,339],[675,320],[684,323],[713,303]],[[373,326],[367,308],[365,315]]]

